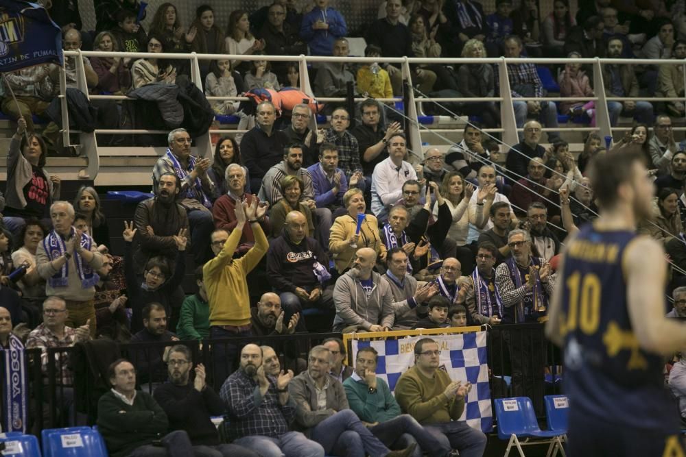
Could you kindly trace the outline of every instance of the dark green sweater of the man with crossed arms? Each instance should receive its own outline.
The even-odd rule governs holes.
[[[131,406],[109,391],[97,402],[97,427],[110,457],[123,457],[164,436],[169,421],[149,393],[136,391]]]

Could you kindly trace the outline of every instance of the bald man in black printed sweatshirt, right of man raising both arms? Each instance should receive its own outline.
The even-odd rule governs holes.
[[[286,322],[305,308],[333,312],[333,287],[329,258],[317,240],[307,236],[302,212],[286,214],[283,234],[271,241],[267,251],[267,277],[279,294]]]

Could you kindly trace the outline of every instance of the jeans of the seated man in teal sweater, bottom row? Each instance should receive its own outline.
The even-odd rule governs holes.
[[[449,445],[438,441],[436,436],[427,432],[414,417],[407,414],[379,423],[370,431],[391,449],[405,449],[411,443],[417,443],[413,457],[421,457],[424,453],[429,454],[429,457],[444,457],[451,452]]]

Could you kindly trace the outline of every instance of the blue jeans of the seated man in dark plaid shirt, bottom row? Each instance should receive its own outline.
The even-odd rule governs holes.
[[[233,444],[251,449],[262,457],[324,457],[322,445],[300,432],[286,432],[278,438],[244,436],[233,440]]]

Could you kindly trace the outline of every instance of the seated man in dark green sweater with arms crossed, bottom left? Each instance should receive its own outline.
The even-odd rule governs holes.
[[[193,445],[184,430],[167,434],[164,410],[147,392],[136,390],[136,369],[120,358],[110,365],[113,388],[97,402],[97,426],[110,457],[187,457]]]

